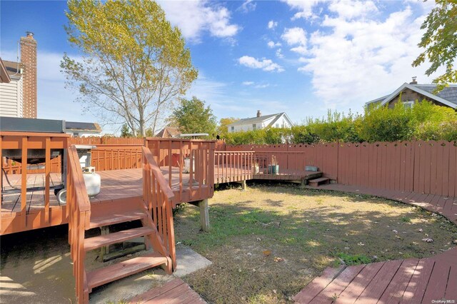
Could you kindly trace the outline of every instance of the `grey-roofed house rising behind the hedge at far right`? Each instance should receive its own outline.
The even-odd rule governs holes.
[[[438,106],[448,106],[449,108],[457,109],[457,84],[450,84],[439,93],[433,93],[436,84],[419,84],[416,77],[410,83],[403,83],[393,93],[368,101],[366,106],[380,104],[381,106],[388,105],[393,108],[398,102],[398,97],[401,94],[401,102],[404,106],[412,107],[413,104],[423,100],[431,101]]]

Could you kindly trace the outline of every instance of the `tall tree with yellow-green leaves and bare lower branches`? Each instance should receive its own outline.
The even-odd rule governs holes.
[[[87,109],[134,136],[157,122],[197,78],[177,27],[155,1],[69,0],[66,33],[83,54],[61,69]]]

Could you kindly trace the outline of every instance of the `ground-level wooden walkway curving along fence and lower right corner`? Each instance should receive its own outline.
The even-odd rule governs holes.
[[[457,223],[456,198],[338,184],[317,188],[401,201]],[[445,299],[457,301],[457,248],[431,258],[327,268],[293,298],[296,303],[438,303]]]

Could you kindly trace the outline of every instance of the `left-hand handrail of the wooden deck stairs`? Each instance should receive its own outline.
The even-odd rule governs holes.
[[[91,203],[86,192],[84,178],[75,146],[68,148],[66,170],[66,202],[69,214],[69,244],[73,260],[78,303],[89,303],[89,286],[84,268],[84,232],[89,228]]]

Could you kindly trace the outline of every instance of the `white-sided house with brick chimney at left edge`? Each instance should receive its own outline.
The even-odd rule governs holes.
[[[21,61],[1,60],[0,116],[36,118],[36,40],[21,37]],[[7,76],[5,75],[5,72]]]

